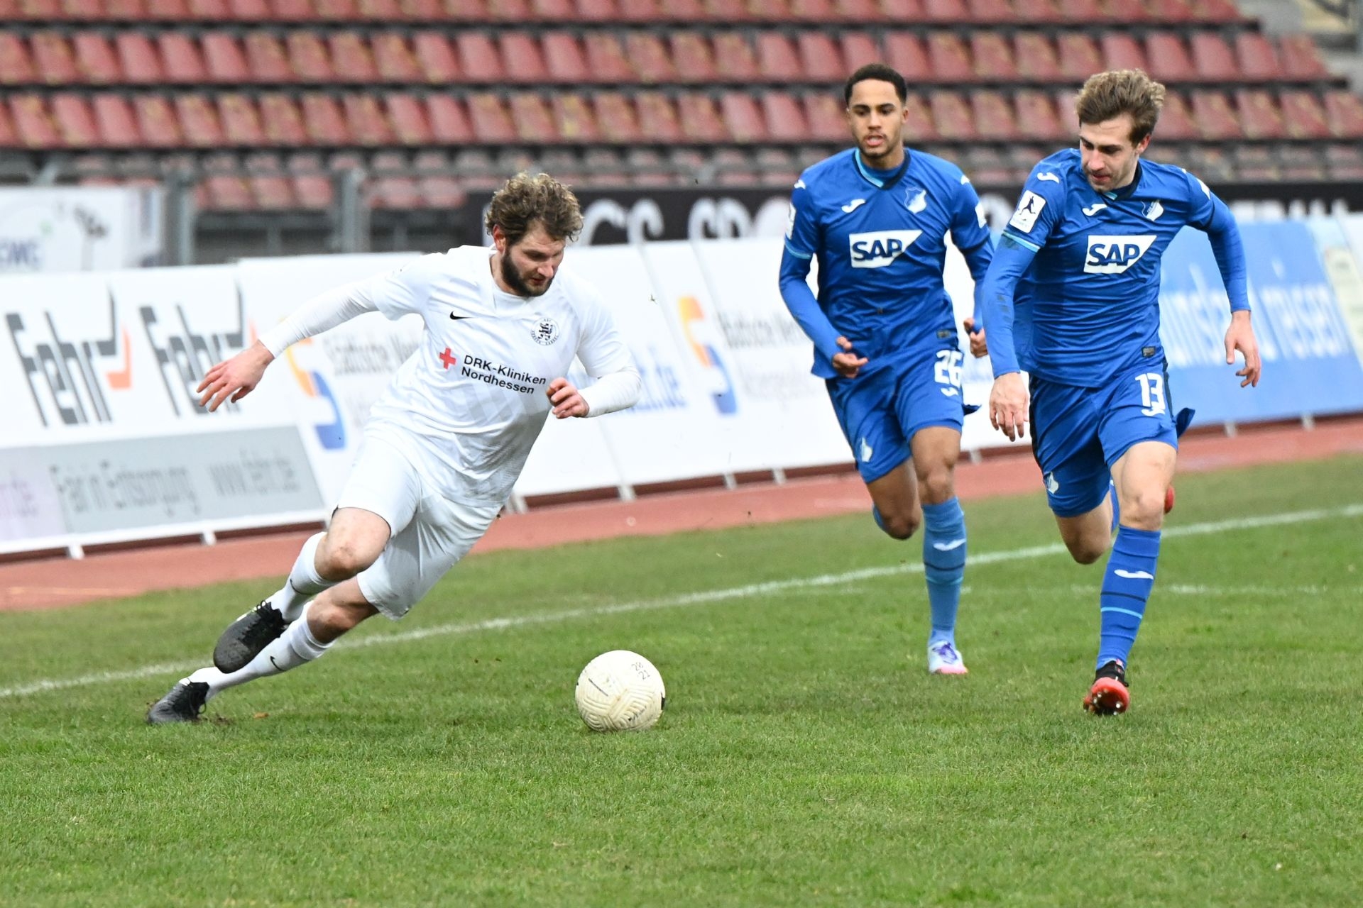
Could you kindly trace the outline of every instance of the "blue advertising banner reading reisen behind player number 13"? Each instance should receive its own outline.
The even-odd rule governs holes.
[[[1164,253],[1160,336],[1176,407],[1197,422],[1251,422],[1363,410],[1363,368],[1311,230],[1302,222],[1240,227],[1254,334],[1264,359],[1257,388],[1225,363],[1229,302],[1206,234],[1184,230]]]

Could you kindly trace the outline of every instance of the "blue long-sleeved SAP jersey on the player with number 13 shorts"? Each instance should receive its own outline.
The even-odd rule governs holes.
[[[1013,293],[1013,350],[1002,343],[1006,332],[995,332],[994,316],[984,319],[995,374],[1021,368],[1097,388],[1141,361],[1163,362],[1160,257],[1184,225],[1212,236],[1231,308],[1249,308],[1235,221],[1205,182],[1180,167],[1141,161],[1131,184],[1099,192],[1084,176],[1078,150],[1043,159],[1000,240],[1000,249],[1017,244],[1035,257]],[[995,271],[1007,271],[1003,257],[1000,252]],[[996,305],[988,297],[1007,295],[1007,282],[999,285],[995,271],[987,313]]]

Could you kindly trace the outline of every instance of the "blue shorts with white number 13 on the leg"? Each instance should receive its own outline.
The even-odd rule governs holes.
[[[1111,467],[1131,445],[1178,449],[1172,410],[1165,362],[1138,363],[1100,388],[1032,378],[1032,453],[1055,516],[1078,517],[1103,504]]]

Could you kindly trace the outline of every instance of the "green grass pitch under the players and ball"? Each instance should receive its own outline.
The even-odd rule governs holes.
[[[1116,719],[1040,496],[966,506],[966,678],[870,515],[477,555],[198,726],[143,715],[270,583],[0,614],[0,904],[1356,904],[1360,479],[1180,478]],[[612,648],[652,731],[574,711]]]

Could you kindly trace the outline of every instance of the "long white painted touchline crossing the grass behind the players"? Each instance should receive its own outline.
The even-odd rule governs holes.
[[[1348,519],[1348,517],[1363,517],[1363,504],[1347,505],[1344,508],[1295,510],[1291,513],[1264,515],[1259,517],[1243,517],[1239,520],[1217,520],[1213,523],[1195,523],[1195,524],[1189,524],[1186,527],[1171,527],[1169,530],[1164,531],[1164,536],[1165,538],[1201,536],[1210,532],[1261,530],[1264,527],[1281,527],[1284,524],[1310,523],[1315,520]],[[1005,561],[1022,561],[1026,558],[1040,558],[1044,555],[1060,554],[1063,551],[1065,546],[1060,543],[1051,543],[1047,546],[1028,546],[1025,549],[1011,549],[1007,551],[983,551],[977,555],[970,555],[969,565],[972,568],[977,568],[980,565],[992,565]],[[711,602],[724,602],[726,599],[748,599],[751,596],[766,596],[786,589],[799,589],[808,587],[836,587],[838,584],[856,583],[859,580],[870,580],[874,577],[889,577],[893,574],[912,574],[921,572],[923,572],[923,565],[917,562],[906,565],[893,565],[885,568],[861,568],[860,570],[846,570],[844,573],[837,573],[837,574],[818,574],[814,577],[796,577],[792,580],[771,580],[767,583],[755,583],[743,587],[729,587],[726,589],[705,589],[699,592],[687,592],[679,596],[664,596],[661,599],[641,599],[637,602],[622,602],[613,606],[593,606],[583,609],[568,609],[566,611],[551,611],[540,615],[515,615],[510,618],[489,618],[487,621],[474,621],[468,623],[436,625],[433,628],[420,628],[416,630],[403,630],[398,633],[363,637],[360,640],[353,640],[353,641],[342,641],[342,644],[339,645],[346,649],[357,647],[380,647],[394,643],[427,640],[428,637],[472,634],[484,630],[506,630],[510,628],[527,628],[533,625],[556,623],[560,621],[572,621],[574,618],[596,618],[600,615],[617,615],[631,611],[650,611],[656,609],[677,609],[684,606],[699,606]],[[10,697],[25,697],[29,694],[44,693],[48,690],[65,690],[68,687],[85,687],[90,685],[112,683],[116,681],[134,681],[138,678],[151,678],[155,675],[183,674],[194,671],[195,668],[200,668],[202,666],[203,666],[202,662],[173,662],[157,666],[142,666],[140,668],[128,668],[124,671],[101,671],[90,675],[79,675],[76,678],[53,678],[53,679],[34,681],[27,685],[19,685],[16,687],[0,687],[0,700],[7,700]]]

